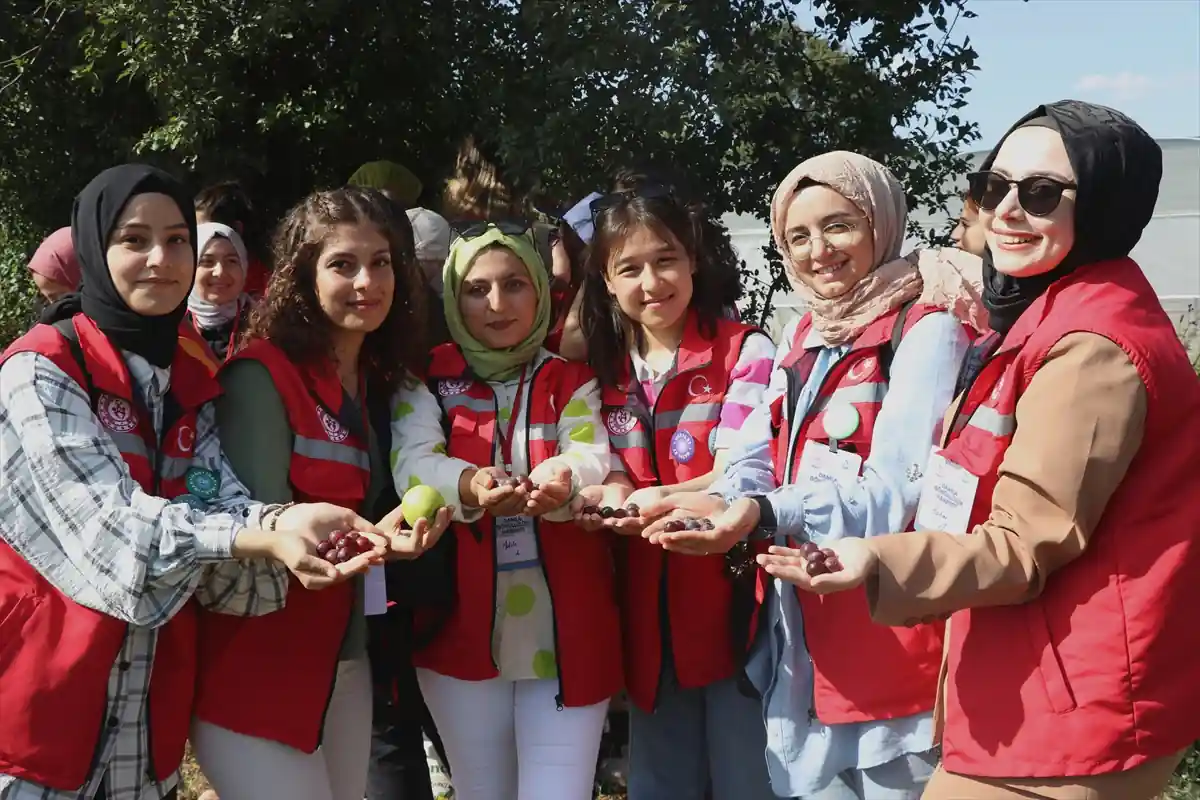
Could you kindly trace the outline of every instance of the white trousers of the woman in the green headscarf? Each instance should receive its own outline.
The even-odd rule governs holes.
[[[559,711],[558,680],[416,676],[455,800],[592,800],[608,700]]]

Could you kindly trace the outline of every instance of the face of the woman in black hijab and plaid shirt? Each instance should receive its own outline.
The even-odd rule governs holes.
[[[191,231],[166,194],[138,194],[125,205],[106,259],[116,293],[134,313],[169,314],[192,290]]]

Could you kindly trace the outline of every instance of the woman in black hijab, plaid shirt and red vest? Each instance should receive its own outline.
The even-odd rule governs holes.
[[[252,503],[215,431],[217,384],[178,343],[196,264],[184,187],[150,167],[76,200],[83,284],[0,365],[0,796],[173,798],[197,604],[280,608],[364,572],[316,543],[371,531],[330,505]],[[236,561],[234,559],[256,559]],[[152,675],[152,680],[151,680]]]

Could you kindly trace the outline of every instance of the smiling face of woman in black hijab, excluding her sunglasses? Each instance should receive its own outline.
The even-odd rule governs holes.
[[[1037,126],[1013,131],[1000,146],[991,172],[1012,181],[1042,175],[1075,182],[1062,137]],[[1075,245],[1075,194],[1064,192],[1052,212],[1036,217],[1021,209],[1016,187],[1010,186],[994,211],[980,209],[979,221],[998,272],[1013,277],[1043,275],[1058,266]]]

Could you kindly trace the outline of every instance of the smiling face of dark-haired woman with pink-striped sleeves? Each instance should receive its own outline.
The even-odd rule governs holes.
[[[625,317],[650,331],[673,331],[691,305],[696,261],[666,228],[634,228],[608,257],[605,284]]]

